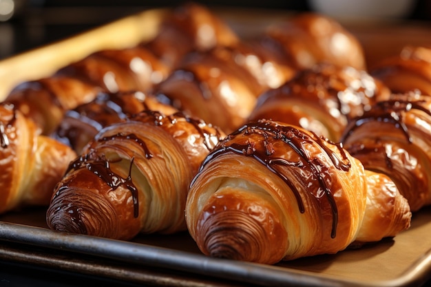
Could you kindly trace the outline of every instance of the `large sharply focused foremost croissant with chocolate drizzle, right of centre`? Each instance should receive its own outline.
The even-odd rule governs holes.
[[[310,131],[247,123],[202,162],[187,196],[187,227],[212,257],[275,264],[337,253],[410,226],[406,199],[376,176],[368,180],[359,160]],[[373,202],[388,220],[363,226],[382,216]]]

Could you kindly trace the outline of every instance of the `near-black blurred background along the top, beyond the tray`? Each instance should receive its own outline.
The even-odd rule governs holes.
[[[4,1],[4,0],[3,0]],[[7,0],[12,1],[12,0]],[[169,0],[13,0],[15,11],[0,21],[0,59],[52,43],[147,8],[176,6]],[[397,0],[394,0],[397,1]],[[267,8],[288,11],[311,10],[306,0],[195,1],[210,7]],[[406,19],[430,21],[431,0],[417,0]]]

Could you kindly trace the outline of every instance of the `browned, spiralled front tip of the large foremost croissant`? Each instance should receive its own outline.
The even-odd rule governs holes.
[[[277,210],[262,194],[229,187],[203,206],[195,235],[202,253],[211,257],[275,264],[284,257],[284,233]]]

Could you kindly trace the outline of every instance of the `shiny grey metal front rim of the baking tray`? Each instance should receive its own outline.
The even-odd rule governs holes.
[[[401,276],[390,280],[364,283],[315,274],[306,270],[218,259],[159,246],[63,233],[11,222],[0,222],[0,240],[262,286],[286,286],[286,284],[294,284],[294,286],[413,286],[412,284],[419,284],[431,277],[431,248]]]

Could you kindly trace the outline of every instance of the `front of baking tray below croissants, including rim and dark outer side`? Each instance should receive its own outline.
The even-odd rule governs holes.
[[[204,256],[187,232],[131,242],[50,231],[44,209],[0,217],[0,258],[158,286],[420,286],[431,277],[431,209],[393,239],[275,265]],[[318,244],[318,242],[316,242]]]

